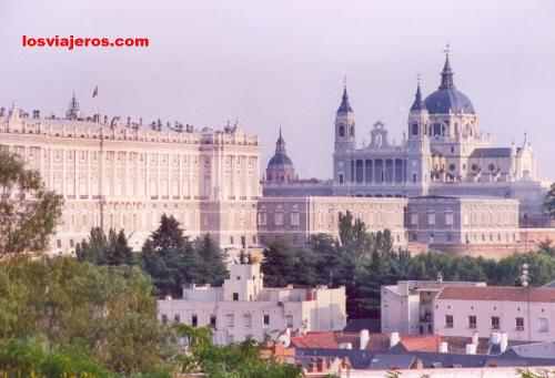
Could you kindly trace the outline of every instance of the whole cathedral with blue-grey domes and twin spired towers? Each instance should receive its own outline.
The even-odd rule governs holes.
[[[547,184],[539,180],[531,143],[525,137],[518,145],[493,145],[490,134],[481,130],[471,99],[455,85],[448,52],[437,90],[425,96],[418,80],[405,130],[401,143],[393,143],[386,126],[376,122],[370,143],[357,143],[360,129],[345,85],[334,123],[333,178],[310,185],[291,180],[272,163],[276,151],[264,194],[312,195],[316,191],[357,197],[516,198],[521,224],[548,223],[542,207]],[[279,143],[284,144],[281,132]],[[284,150],[282,155],[286,157]],[[286,172],[294,172],[292,163]]]

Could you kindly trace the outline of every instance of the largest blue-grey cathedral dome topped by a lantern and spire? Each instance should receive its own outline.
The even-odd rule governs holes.
[[[442,83],[437,91],[424,100],[424,103],[430,114],[448,114],[450,112],[475,114],[468,96],[455,88],[448,54],[442,71]]]

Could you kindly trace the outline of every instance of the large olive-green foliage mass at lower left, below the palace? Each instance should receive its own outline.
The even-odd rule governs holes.
[[[0,339],[43,337],[113,371],[163,364],[168,338],[151,282],[137,267],[11,259],[0,265]]]

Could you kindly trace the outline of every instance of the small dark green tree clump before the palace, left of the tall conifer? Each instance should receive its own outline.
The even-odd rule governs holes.
[[[115,233],[110,229],[108,237],[100,227],[91,229],[89,241],[83,241],[75,247],[75,255],[80,262],[95,265],[132,265],[133,251],[128,245],[123,229]]]

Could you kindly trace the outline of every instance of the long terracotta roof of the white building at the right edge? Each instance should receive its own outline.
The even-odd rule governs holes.
[[[555,288],[513,286],[445,287],[436,299],[555,303]]]

